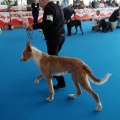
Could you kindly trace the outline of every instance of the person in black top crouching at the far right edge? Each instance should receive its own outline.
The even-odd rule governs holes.
[[[111,25],[114,28],[114,22],[118,20],[116,28],[120,28],[120,7],[115,10],[111,16],[109,17],[109,21],[111,22]]]

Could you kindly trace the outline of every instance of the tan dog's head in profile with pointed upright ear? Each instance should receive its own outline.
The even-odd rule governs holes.
[[[20,61],[27,61],[31,58],[32,55],[32,49],[30,42],[27,41],[26,48],[22,52],[22,57],[20,58]]]

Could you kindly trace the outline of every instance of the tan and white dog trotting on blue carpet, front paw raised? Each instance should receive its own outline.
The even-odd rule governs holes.
[[[82,93],[82,91],[80,90],[80,86],[82,86],[93,96],[93,98],[97,102],[96,111],[100,111],[102,109],[100,99],[98,95],[92,90],[88,81],[88,77],[91,78],[94,83],[102,84],[108,80],[111,74],[107,74],[102,79],[97,79],[92,74],[91,69],[80,59],[47,55],[37,48],[32,47],[30,43],[27,42],[26,48],[24,49],[21,57],[21,61],[27,61],[30,58],[33,58],[41,71],[41,75],[36,77],[34,84],[37,84],[40,78],[46,78],[50,92],[50,97],[47,98],[48,101],[52,101],[54,99],[52,76],[61,75],[68,72],[71,73],[73,82],[76,87],[76,93],[69,94],[69,97],[75,98],[80,95]]]

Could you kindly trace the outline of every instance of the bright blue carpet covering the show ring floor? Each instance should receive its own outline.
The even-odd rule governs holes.
[[[39,74],[35,63],[20,62],[27,41],[25,29],[4,30],[0,35],[0,120],[118,120],[120,118],[120,29],[101,33],[91,31],[91,21],[83,22],[84,35],[66,36],[59,56],[77,57],[87,63],[97,78],[111,73],[107,83],[95,85],[103,110],[95,112],[96,102],[82,89],[76,99],[68,94],[75,92],[70,74],[65,74],[66,88],[55,90],[55,99],[49,96],[45,79],[38,85],[33,81]],[[75,29],[72,29],[75,32]],[[47,53],[42,34],[33,31],[31,44]],[[54,84],[56,80],[53,79]]]

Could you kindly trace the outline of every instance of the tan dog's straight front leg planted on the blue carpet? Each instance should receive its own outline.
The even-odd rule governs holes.
[[[47,98],[47,101],[52,101],[54,100],[54,89],[53,89],[53,83],[52,83],[52,77],[46,79],[48,83],[48,88],[50,92],[50,97]]]

